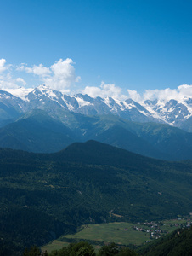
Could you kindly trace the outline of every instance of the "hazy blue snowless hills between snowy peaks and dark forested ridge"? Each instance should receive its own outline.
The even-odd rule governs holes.
[[[0,147],[36,153],[53,153],[88,140],[161,160],[192,159],[191,133],[170,125],[134,123],[114,115],[85,116],[61,111],[53,118],[34,109],[0,128]]]

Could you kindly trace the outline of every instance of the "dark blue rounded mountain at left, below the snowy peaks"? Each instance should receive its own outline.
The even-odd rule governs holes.
[[[54,152],[74,142],[70,129],[42,110],[33,110],[0,129],[0,146],[32,152]]]

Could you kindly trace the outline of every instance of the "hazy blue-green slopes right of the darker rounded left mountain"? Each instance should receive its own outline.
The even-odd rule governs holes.
[[[177,127],[135,123],[110,115],[83,117],[79,122],[82,141],[93,139],[164,160],[192,159],[192,134]]]

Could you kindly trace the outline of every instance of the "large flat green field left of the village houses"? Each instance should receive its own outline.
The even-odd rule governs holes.
[[[93,246],[99,249],[97,242],[112,242],[119,245],[141,245],[144,241],[149,240],[150,236],[143,232],[133,230],[133,224],[125,222],[109,223],[109,224],[88,224],[82,225],[82,230],[74,235],[59,237],[52,243],[42,247],[42,250],[51,252],[66,246],[65,239],[71,241],[88,240],[92,241]]]

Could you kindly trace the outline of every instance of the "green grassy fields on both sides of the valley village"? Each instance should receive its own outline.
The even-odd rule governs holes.
[[[179,224],[189,224],[192,218],[188,219],[171,219],[161,223],[161,230],[171,232],[177,229]],[[82,225],[81,230],[74,235],[60,236],[59,240],[54,240],[48,245],[42,247],[42,250],[47,250],[48,253],[53,250],[59,250],[67,246],[70,242],[78,242],[86,240],[93,244],[96,251],[101,247],[102,243],[114,241],[118,245],[142,245],[145,241],[151,240],[150,233],[133,230],[134,224],[126,222],[116,222],[108,224],[86,224]],[[149,225],[136,224],[137,227],[149,229]],[[151,229],[151,227],[150,227]],[[100,243],[100,245],[99,245]]]

